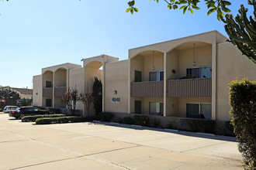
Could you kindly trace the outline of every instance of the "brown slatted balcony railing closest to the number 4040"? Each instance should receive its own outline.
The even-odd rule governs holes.
[[[163,81],[132,82],[131,97],[164,97]]]

